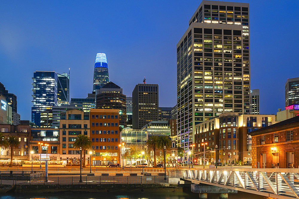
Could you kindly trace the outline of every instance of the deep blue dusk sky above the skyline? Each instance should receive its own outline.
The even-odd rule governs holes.
[[[31,120],[33,72],[68,72],[70,98],[92,92],[94,61],[106,53],[109,81],[132,96],[144,76],[159,107],[176,104],[176,44],[201,1],[1,1],[0,82]],[[249,3],[251,89],[260,114],[285,107],[284,85],[299,77],[298,1]]]

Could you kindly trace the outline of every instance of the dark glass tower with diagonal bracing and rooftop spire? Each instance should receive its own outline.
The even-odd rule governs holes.
[[[70,73],[57,74],[57,105],[70,103]]]

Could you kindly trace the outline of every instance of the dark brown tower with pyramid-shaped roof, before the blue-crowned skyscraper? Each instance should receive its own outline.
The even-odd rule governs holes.
[[[126,127],[126,95],[123,95],[122,91],[123,89],[113,82],[104,85],[96,95],[96,107],[97,109],[119,109],[119,126]]]

